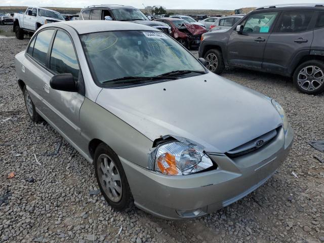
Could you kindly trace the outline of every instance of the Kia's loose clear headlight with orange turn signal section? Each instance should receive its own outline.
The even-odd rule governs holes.
[[[189,140],[160,144],[151,153],[154,171],[164,175],[189,175],[214,166],[200,146]]]

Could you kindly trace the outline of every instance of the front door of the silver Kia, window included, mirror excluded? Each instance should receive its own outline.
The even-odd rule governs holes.
[[[77,55],[69,34],[57,30],[49,51],[48,72],[43,78],[44,114],[74,143],[80,140],[79,110],[85,99],[77,92],[54,90],[51,78],[60,73],[71,73],[75,82],[83,82]]]

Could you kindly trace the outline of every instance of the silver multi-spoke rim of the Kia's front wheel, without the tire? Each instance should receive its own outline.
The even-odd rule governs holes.
[[[121,178],[114,161],[107,155],[98,157],[98,176],[101,186],[110,200],[117,203],[123,195]]]

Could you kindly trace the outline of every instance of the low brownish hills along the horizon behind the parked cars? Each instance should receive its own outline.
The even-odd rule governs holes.
[[[75,14],[79,13],[81,9],[79,8],[58,8],[58,7],[44,7],[47,9],[52,9],[62,14]],[[0,13],[18,13],[25,12],[27,7],[23,6],[0,6]],[[255,8],[242,8],[243,13],[248,13]],[[141,9],[142,12],[146,12],[145,9]],[[231,15],[234,14],[234,10],[213,10],[213,9],[167,9],[168,13],[183,14],[183,15],[197,15],[206,14],[208,16],[212,15]]]

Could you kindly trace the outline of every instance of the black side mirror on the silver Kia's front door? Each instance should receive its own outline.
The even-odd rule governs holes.
[[[71,73],[62,73],[53,76],[50,86],[54,90],[77,92],[76,84]]]

